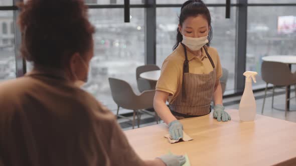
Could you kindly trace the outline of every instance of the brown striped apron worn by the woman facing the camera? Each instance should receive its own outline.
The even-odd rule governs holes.
[[[182,91],[170,104],[170,109],[177,119],[206,115],[211,112],[211,101],[216,83],[216,68],[207,49],[204,50],[213,66],[208,74],[189,73],[189,61],[186,46],[184,47],[185,61],[183,64]]]

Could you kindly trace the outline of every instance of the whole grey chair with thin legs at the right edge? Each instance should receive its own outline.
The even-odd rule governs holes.
[[[273,62],[273,61],[263,61],[261,65],[261,75],[262,79],[266,82],[265,87],[265,94],[263,99],[263,105],[261,113],[263,114],[264,110],[264,104],[265,104],[265,98],[266,98],[266,92],[268,84],[273,84],[272,87],[272,102],[271,107],[273,108],[273,99],[274,99],[274,88],[280,87],[280,86],[288,86],[288,85],[294,85],[296,88],[296,73],[292,73],[290,71],[290,68],[287,64],[281,63],[281,62]],[[296,94],[296,91],[295,91]],[[286,98],[285,102],[290,100],[291,98]],[[287,115],[287,105],[285,106],[285,117]]]

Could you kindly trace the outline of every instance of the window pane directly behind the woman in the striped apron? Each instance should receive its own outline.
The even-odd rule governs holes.
[[[209,7],[209,10],[214,32],[211,46],[218,50],[222,67],[229,71],[226,93],[230,93],[234,90],[235,81],[233,59],[235,59],[236,7],[231,7],[230,19],[225,18],[225,7]],[[157,65],[159,66],[173,51],[179,14],[180,8],[157,8]]]

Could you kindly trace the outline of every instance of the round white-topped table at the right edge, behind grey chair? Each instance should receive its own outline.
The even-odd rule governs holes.
[[[295,55],[263,56],[262,60],[286,63],[289,65],[290,70],[291,70],[291,64],[296,64],[296,56]],[[287,98],[290,98],[290,86],[286,86],[286,99]],[[290,108],[290,101],[289,100],[286,100],[285,106],[289,110],[289,108]]]

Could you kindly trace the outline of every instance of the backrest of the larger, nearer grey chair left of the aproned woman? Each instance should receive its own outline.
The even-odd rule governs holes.
[[[131,104],[137,97],[131,86],[124,80],[109,78],[112,98],[117,105],[125,109],[132,109]]]

